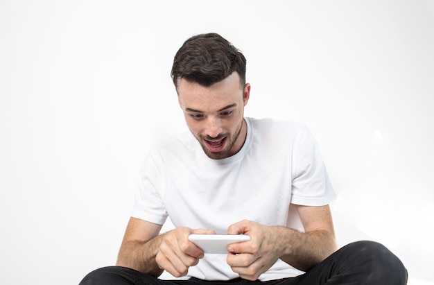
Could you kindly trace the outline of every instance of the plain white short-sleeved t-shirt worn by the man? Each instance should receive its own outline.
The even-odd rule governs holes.
[[[175,227],[205,228],[218,234],[243,219],[304,231],[290,203],[327,205],[335,197],[320,151],[301,123],[245,118],[241,150],[210,159],[191,132],[153,148],[141,171],[132,216]],[[294,277],[302,271],[280,259],[259,279]],[[226,254],[205,254],[189,277],[228,280],[238,277]]]

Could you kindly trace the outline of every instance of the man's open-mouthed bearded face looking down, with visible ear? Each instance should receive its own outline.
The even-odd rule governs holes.
[[[243,115],[250,84],[242,89],[236,72],[209,87],[182,78],[177,93],[187,126],[208,157],[223,159],[238,153],[247,135]]]

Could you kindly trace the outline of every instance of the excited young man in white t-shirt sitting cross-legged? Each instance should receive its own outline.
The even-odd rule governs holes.
[[[406,284],[383,245],[337,250],[318,146],[300,123],[244,117],[245,65],[215,33],[184,42],[172,76],[190,132],[150,151],[116,266],[81,284]],[[159,234],[168,216],[176,228]],[[214,233],[250,241],[205,254],[188,239]]]

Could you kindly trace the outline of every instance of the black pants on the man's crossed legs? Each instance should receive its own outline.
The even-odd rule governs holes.
[[[407,270],[390,250],[373,241],[358,241],[340,248],[303,275],[272,281],[161,280],[130,268],[110,266],[89,273],[80,285],[316,285],[407,284]]]

